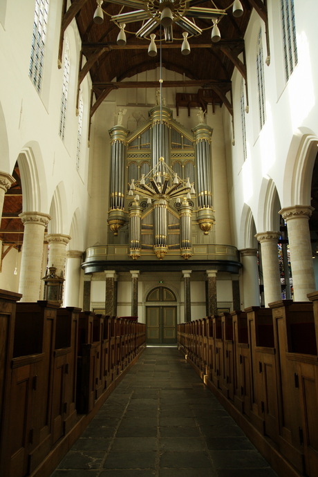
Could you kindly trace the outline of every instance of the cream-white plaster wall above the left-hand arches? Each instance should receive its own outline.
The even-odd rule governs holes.
[[[82,128],[81,162],[76,170],[77,124],[75,100],[79,68],[80,39],[73,21],[66,30],[70,42],[71,75],[66,111],[65,140],[59,137],[59,113],[62,95],[62,68],[57,68],[59,29],[62,0],[50,2],[47,47],[41,93],[37,93],[28,77],[34,18],[34,1],[4,1],[0,11],[0,119],[1,142],[8,142],[8,152],[1,155],[0,170],[12,174],[17,159],[24,187],[24,212],[48,214],[53,196],[57,194],[59,207],[52,207],[59,217],[53,217],[50,232],[70,234],[71,223],[77,215],[73,234],[76,241],[87,245],[88,216],[88,105],[90,78],[82,83],[84,120]],[[19,15],[17,15],[19,11]],[[15,39],[15,41],[12,41]],[[24,175],[24,167],[30,178]],[[30,176],[30,177],[31,177]],[[62,194],[60,194],[62,191]],[[57,227],[55,227],[55,225]],[[75,238],[75,237],[73,237]],[[8,261],[7,261],[8,263]],[[6,282],[10,270],[3,268],[1,279]],[[9,282],[8,282],[9,283]],[[11,282],[10,282],[11,283]],[[12,289],[17,291],[16,283]]]

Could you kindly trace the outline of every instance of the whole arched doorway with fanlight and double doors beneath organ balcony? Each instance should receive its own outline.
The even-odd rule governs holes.
[[[147,295],[146,326],[148,344],[176,343],[177,306],[174,292],[158,286]],[[153,304],[149,304],[153,303]]]

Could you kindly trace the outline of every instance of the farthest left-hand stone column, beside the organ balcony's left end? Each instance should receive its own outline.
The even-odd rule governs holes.
[[[68,250],[66,252],[64,306],[79,306],[79,308],[82,308],[79,305],[82,256],[83,252],[81,250]]]

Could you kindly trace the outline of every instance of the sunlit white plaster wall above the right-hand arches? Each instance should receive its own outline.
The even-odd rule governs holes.
[[[303,2],[294,1],[298,65],[288,83],[284,80],[281,46],[281,26],[279,4],[268,1],[270,65],[265,69],[265,104],[266,122],[259,131],[258,104],[256,98],[256,41],[259,28],[263,32],[263,57],[267,56],[265,46],[265,26],[253,10],[250,24],[245,35],[245,52],[247,62],[247,84],[249,88],[250,112],[245,115],[247,131],[247,160],[243,163],[243,146],[241,135],[241,75],[234,70],[232,77],[234,94],[234,124],[236,131],[235,145],[230,147],[230,123],[225,118],[225,136],[227,144],[227,171],[229,200],[234,245],[238,248],[247,246],[241,233],[241,218],[245,205],[250,207],[256,224],[256,232],[271,230],[273,220],[264,208],[267,187],[271,183],[277,188],[281,207],[294,205],[291,191],[300,184],[292,182],[294,165],[298,159],[298,147],[301,138],[310,133],[318,138],[318,65],[315,52],[318,47],[315,15],[318,13],[317,2],[310,1],[310,15],[303,8]],[[293,140],[293,142],[292,142]],[[309,184],[310,187],[310,184]]]

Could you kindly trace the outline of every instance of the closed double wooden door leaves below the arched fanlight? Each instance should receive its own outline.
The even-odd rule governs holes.
[[[147,343],[176,343],[176,306],[147,306]]]

